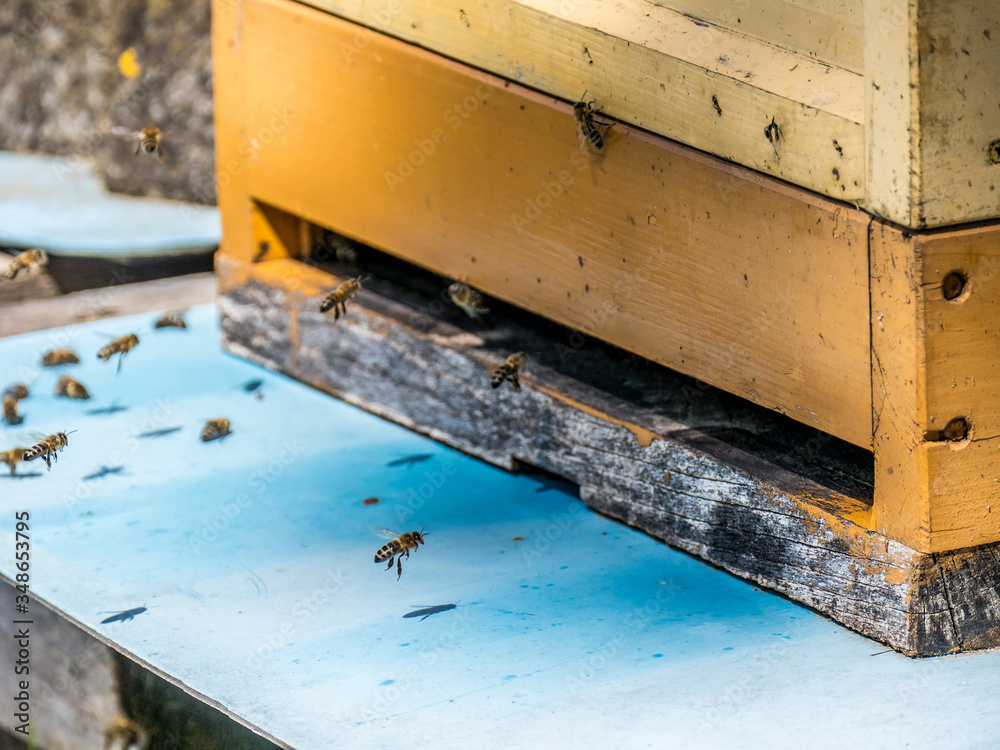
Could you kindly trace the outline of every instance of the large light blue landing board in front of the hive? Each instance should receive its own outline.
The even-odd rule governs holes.
[[[55,399],[44,371],[25,424],[0,435],[78,430],[51,472],[0,480],[0,570],[29,510],[38,596],[289,745],[997,747],[1000,653],[872,656],[883,647],[558,490],[222,354],[215,315],[0,340],[0,387],[68,345],[83,364],[61,369],[94,394]],[[135,330],[116,377],[97,331]],[[240,387],[257,378],[263,400]],[[83,415],[115,399],[129,410]],[[216,416],[233,435],[202,444]],[[373,562],[371,524],[429,532],[398,582]]]

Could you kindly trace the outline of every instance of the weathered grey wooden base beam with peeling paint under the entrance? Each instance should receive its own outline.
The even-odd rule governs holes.
[[[521,391],[494,391],[489,370],[523,340],[506,324],[470,333],[426,314],[430,300],[404,304],[370,289],[332,324],[318,302],[339,278],[284,260],[220,256],[218,267],[224,346],[238,356],[496,465],[566,477],[592,507],[904,653],[1000,639],[988,590],[1000,571],[996,545],[921,554],[865,528],[863,499],[748,452],[722,430],[542,364],[529,365]]]

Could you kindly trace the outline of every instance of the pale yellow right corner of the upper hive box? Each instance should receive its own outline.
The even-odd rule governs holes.
[[[1000,3],[865,0],[865,54],[865,205],[908,227],[1000,216]]]

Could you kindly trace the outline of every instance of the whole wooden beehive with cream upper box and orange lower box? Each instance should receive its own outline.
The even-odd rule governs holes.
[[[996,644],[995,6],[314,5],[213,6],[227,348],[907,653]],[[379,282],[334,325],[319,228],[569,333]]]

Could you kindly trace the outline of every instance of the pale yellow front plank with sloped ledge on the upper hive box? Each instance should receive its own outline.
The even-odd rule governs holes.
[[[310,4],[566,101],[586,90],[611,117],[816,192],[865,196],[863,77],[812,57],[647,0]],[[351,63],[374,36],[355,29],[337,52]]]

